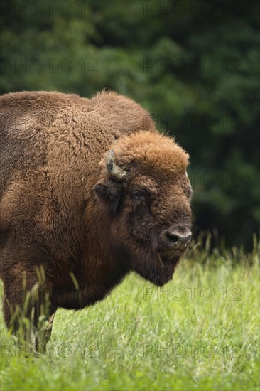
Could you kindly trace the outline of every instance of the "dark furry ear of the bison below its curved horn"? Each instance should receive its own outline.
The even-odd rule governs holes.
[[[97,183],[94,186],[94,193],[108,203],[115,213],[121,198],[121,187],[121,183],[108,179]]]

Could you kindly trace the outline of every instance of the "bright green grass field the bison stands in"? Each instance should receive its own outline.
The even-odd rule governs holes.
[[[40,357],[1,317],[1,390],[259,390],[259,247],[199,247],[162,289],[133,274],[93,307],[59,310]]]

